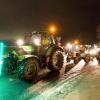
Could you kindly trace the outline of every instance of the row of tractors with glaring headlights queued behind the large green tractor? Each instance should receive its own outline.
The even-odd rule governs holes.
[[[74,61],[74,64],[77,64],[81,59],[86,63],[89,63],[93,58],[97,58],[100,61],[100,50],[98,46],[86,46],[86,45],[67,45],[67,62],[70,60]]]

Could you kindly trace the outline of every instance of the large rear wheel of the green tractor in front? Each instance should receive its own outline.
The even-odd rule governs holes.
[[[64,57],[62,51],[59,49],[54,50],[50,56],[48,68],[51,71],[59,71],[63,67],[63,63]]]

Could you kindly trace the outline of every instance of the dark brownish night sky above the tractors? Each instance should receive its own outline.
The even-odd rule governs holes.
[[[51,23],[57,25],[62,36],[94,41],[100,24],[100,1],[0,0],[1,39],[46,30]]]

